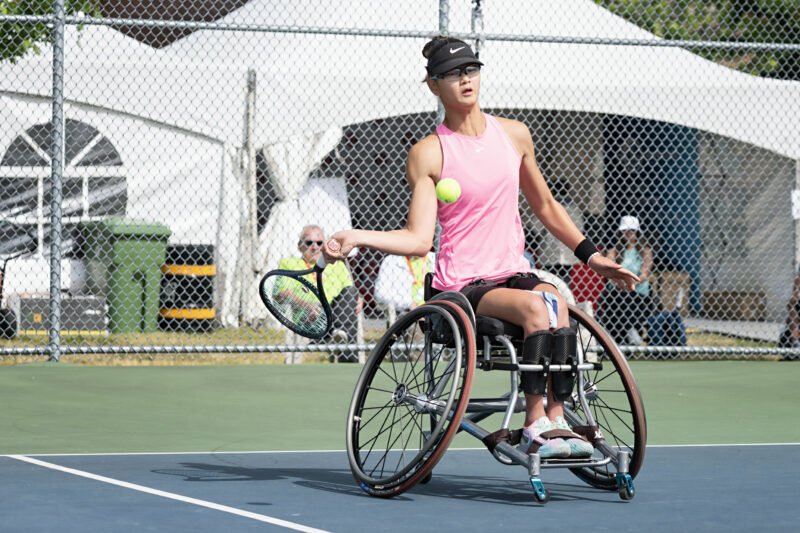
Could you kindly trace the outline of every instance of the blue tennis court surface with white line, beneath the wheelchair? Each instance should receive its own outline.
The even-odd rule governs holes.
[[[429,484],[390,500],[362,493],[341,451],[2,456],[0,529],[796,531],[798,453],[800,444],[650,447],[633,501],[545,470],[545,506],[524,469],[486,450],[449,450]]]

